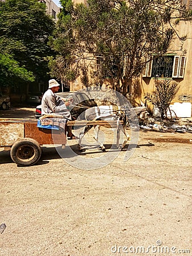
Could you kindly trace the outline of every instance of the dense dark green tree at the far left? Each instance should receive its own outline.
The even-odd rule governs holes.
[[[0,1],[0,82],[48,79],[48,46],[55,23],[37,0]],[[5,62],[4,62],[5,61]]]

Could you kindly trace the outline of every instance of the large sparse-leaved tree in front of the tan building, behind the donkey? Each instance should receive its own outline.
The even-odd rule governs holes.
[[[52,45],[64,59],[70,59],[76,70],[83,67],[84,76],[85,63],[90,66],[92,61],[95,69],[91,75],[97,83],[111,77],[113,89],[126,96],[128,83],[146,65],[145,56],[149,61],[164,55],[178,36],[174,25],[191,19],[181,2],[88,0],[87,6],[74,6],[70,0],[61,1],[64,11]],[[185,36],[180,39],[183,42]]]

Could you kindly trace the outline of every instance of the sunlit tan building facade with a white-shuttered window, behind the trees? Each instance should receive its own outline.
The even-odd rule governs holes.
[[[86,0],[74,0],[74,3],[87,4]],[[192,0],[183,0],[183,5],[187,9],[192,9]],[[173,102],[192,103],[192,24],[181,21],[176,27],[180,37],[186,35],[186,40],[181,48],[179,39],[174,40],[169,51],[164,57],[150,61],[140,78],[133,81],[130,86],[131,97],[135,98],[135,103],[144,102],[144,94],[155,90],[155,81],[169,78],[178,82],[180,89]],[[83,88],[80,79],[71,83],[71,90]]]

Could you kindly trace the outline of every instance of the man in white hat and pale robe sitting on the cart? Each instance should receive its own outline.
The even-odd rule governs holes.
[[[73,98],[61,98],[55,93],[59,91],[60,84],[55,80],[49,80],[49,88],[44,93],[41,100],[41,114],[61,114],[64,118],[72,120],[68,106],[73,102]],[[77,139],[72,133],[72,126],[67,126],[68,138]]]

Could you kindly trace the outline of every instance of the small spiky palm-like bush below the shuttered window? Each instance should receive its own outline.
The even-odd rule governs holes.
[[[152,94],[146,93],[144,98],[158,107],[161,113],[161,118],[164,119],[167,117],[166,113],[169,105],[174,97],[176,97],[180,87],[177,82],[172,82],[170,80],[156,80],[155,88],[155,92]]]

